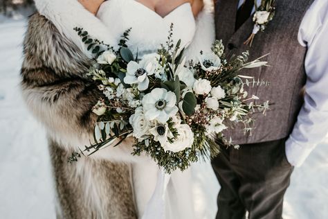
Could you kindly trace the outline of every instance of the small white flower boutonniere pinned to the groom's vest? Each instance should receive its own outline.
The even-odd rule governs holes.
[[[254,28],[244,44],[252,46],[255,35],[259,30],[263,32],[273,17],[275,17],[275,0],[262,0],[260,6],[257,6],[255,0]]]

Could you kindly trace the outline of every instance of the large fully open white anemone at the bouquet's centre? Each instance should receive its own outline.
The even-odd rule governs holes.
[[[147,119],[160,123],[166,123],[179,111],[175,94],[163,88],[155,88],[143,97],[143,110]]]

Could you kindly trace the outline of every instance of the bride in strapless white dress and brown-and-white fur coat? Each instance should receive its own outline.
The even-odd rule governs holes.
[[[48,133],[57,189],[57,218],[214,218],[217,179],[208,161],[175,171],[161,193],[154,161],[131,155],[128,139],[68,164],[72,152],[89,145],[101,95],[84,78],[91,65],[73,28],[116,45],[131,28],[129,48],[138,57],[173,39],[196,59],[215,40],[212,1],[201,0],[35,0],[24,41],[21,88],[27,106]]]

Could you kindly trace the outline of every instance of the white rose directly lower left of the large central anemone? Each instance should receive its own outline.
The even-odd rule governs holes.
[[[143,140],[145,135],[150,134],[149,129],[152,128],[151,123],[145,118],[143,107],[136,108],[134,114],[129,118],[129,123],[134,129],[134,137],[139,141]]]

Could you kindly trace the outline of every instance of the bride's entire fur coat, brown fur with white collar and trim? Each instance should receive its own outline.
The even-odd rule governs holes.
[[[149,170],[156,165],[149,165],[153,162],[147,157],[131,155],[132,139],[120,147],[108,147],[91,157],[83,157],[77,164],[67,164],[71,152],[89,145],[93,139],[92,128],[97,118],[90,109],[102,95],[93,82],[83,77],[90,66],[90,54],[73,28],[83,26],[93,37],[113,45],[109,30],[76,0],[35,0],[35,3],[41,15],[33,15],[28,25],[21,87],[28,108],[48,130],[58,217],[141,216],[157,177],[156,173],[149,176]],[[215,40],[212,1],[205,3],[197,17],[194,40],[185,53],[188,59],[196,59],[199,51],[209,50]],[[139,183],[131,183],[132,162],[138,173],[138,179],[133,180]],[[153,183],[145,186],[149,177]]]

